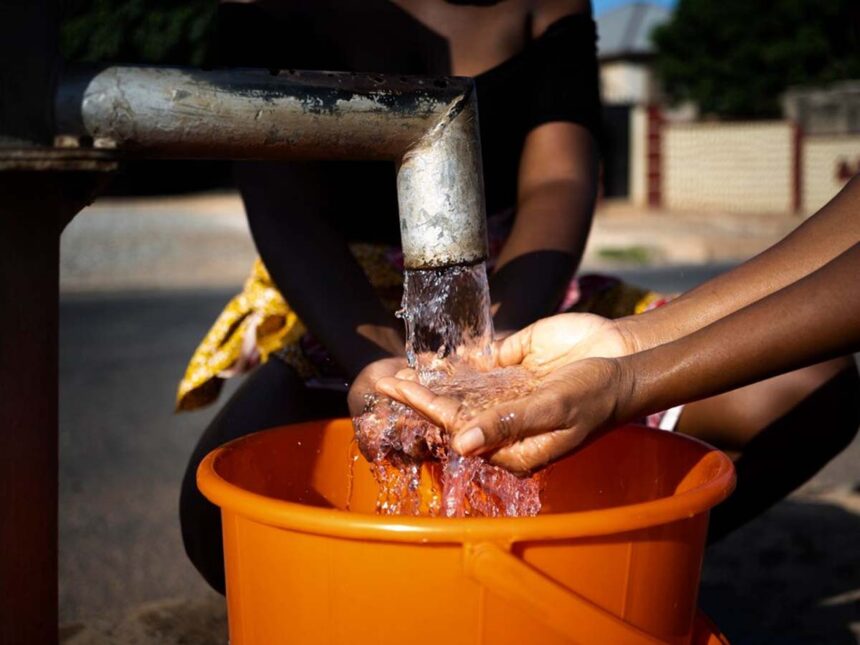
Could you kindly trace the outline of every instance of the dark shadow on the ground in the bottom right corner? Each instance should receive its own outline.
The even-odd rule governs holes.
[[[699,604],[735,645],[855,645],[858,540],[860,515],[786,500],[708,550]]]

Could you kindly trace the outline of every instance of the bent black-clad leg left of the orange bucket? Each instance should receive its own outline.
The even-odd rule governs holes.
[[[185,551],[213,589],[224,593],[221,512],[197,490],[197,466],[218,446],[258,430],[312,419],[348,416],[346,394],[305,386],[277,358],[251,373],[206,428],[185,471],[179,519]]]

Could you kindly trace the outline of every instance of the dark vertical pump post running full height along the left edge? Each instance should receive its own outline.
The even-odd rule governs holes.
[[[57,640],[55,0],[0,3],[0,643]],[[10,150],[14,146],[16,150]],[[57,159],[53,160],[54,162]],[[56,169],[56,167],[55,167]],[[74,194],[69,190],[68,195]]]

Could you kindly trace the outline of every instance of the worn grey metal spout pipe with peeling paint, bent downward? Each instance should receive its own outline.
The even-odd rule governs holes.
[[[487,256],[469,79],[108,67],[62,79],[55,112],[58,134],[140,157],[391,159],[406,267]]]

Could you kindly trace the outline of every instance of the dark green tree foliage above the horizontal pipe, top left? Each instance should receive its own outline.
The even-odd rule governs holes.
[[[75,0],[61,49],[76,62],[200,65],[217,0]]]

